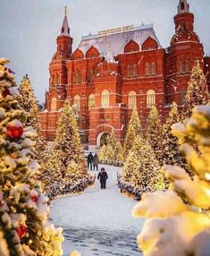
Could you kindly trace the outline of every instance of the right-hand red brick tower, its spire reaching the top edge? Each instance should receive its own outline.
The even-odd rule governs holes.
[[[167,101],[182,106],[190,72],[196,60],[203,62],[204,50],[194,31],[194,15],[189,12],[187,0],[180,0],[178,13],[174,16],[175,34],[171,46],[166,49]]]

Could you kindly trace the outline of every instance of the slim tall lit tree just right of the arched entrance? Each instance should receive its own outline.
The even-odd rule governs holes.
[[[129,150],[132,148],[133,141],[136,136],[142,132],[141,124],[139,121],[139,115],[137,108],[134,107],[132,110],[132,115],[130,116],[130,121],[124,141],[124,158],[129,154]]]

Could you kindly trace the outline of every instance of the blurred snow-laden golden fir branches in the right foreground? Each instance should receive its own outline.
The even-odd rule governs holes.
[[[164,166],[172,191],[146,193],[133,209],[147,218],[138,243],[145,256],[207,256],[210,252],[210,107],[195,107],[184,124],[173,124],[193,180],[178,166]],[[194,149],[195,145],[197,150]],[[175,227],[175,228],[174,228]]]

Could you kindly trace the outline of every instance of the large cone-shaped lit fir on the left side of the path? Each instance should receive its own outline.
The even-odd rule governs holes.
[[[42,175],[50,198],[59,193],[74,192],[75,189],[77,192],[83,191],[94,182],[94,177],[88,173],[78,123],[68,100],[63,104],[57,122],[54,149],[50,154],[44,166],[46,172]],[[79,182],[80,187],[75,188]]]

